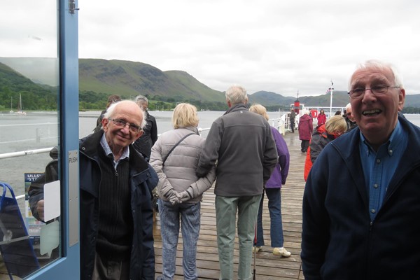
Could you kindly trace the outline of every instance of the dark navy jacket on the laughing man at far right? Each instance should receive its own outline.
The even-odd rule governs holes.
[[[372,223],[359,128],[314,163],[303,198],[305,279],[420,279],[420,128],[399,121],[408,145]]]

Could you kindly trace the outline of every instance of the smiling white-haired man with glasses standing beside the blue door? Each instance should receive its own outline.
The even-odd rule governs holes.
[[[158,176],[132,146],[143,126],[139,106],[121,101],[80,140],[80,279],[155,279]]]

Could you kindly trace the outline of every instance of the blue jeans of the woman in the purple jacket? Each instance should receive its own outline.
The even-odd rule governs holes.
[[[281,221],[281,189],[266,188],[265,193],[268,198],[268,210],[270,220],[270,237],[272,248],[283,247],[283,224]],[[256,246],[263,246],[264,232],[262,230],[262,207],[264,197],[261,197],[260,209],[258,209],[257,220],[257,243]]]

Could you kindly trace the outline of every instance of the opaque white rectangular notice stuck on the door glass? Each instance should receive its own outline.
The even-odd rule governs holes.
[[[44,221],[50,221],[60,215],[60,183],[54,181],[44,185]]]

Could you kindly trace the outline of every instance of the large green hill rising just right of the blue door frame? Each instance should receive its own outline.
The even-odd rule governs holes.
[[[203,100],[224,102],[223,92],[212,90],[185,71],[160,71],[141,62],[79,59],[80,91],[147,95],[165,101]]]

